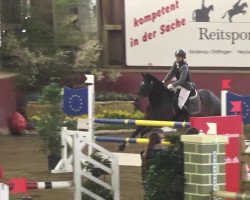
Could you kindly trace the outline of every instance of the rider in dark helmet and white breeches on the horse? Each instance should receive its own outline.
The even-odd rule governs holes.
[[[172,80],[172,78],[174,77],[177,79],[176,81],[168,84],[167,88],[169,90],[180,89],[178,97],[178,107],[180,110],[184,110],[189,113],[187,107],[185,106],[185,103],[190,92],[194,90],[194,84],[189,74],[188,64],[185,61],[186,52],[182,49],[178,49],[175,52],[175,57],[176,60],[173,64],[173,67],[162,82],[165,84],[168,81]]]

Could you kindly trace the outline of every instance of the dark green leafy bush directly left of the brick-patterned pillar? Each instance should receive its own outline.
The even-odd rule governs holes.
[[[183,144],[179,136],[168,136],[173,145],[158,151],[143,174],[146,200],[184,199]]]

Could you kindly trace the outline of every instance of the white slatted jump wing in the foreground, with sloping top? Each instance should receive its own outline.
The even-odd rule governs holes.
[[[104,188],[113,192],[113,199],[119,200],[120,199],[120,178],[119,178],[119,165],[118,165],[118,156],[113,154],[112,152],[104,149],[103,147],[95,144],[91,140],[88,140],[82,134],[74,134],[73,135],[73,148],[74,148],[74,183],[75,183],[75,200],[81,200],[82,193],[85,193],[97,200],[105,200],[102,197],[94,194],[90,190],[84,188],[82,186],[83,177],[87,178]],[[102,155],[107,157],[111,161],[111,166],[107,167],[102,163],[97,162],[96,160],[92,159],[88,154],[84,154],[82,149],[87,146],[91,146],[95,151],[101,152]],[[84,163],[89,162],[93,164],[93,166],[98,167],[111,176],[111,184],[106,183],[97,177],[93,176],[92,174],[88,173],[87,171],[82,169],[82,165]]]

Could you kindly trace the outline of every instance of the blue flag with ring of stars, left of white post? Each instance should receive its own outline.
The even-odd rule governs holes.
[[[88,113],[88,88],[71,89],[64,87],[63,111],[67,115]]]

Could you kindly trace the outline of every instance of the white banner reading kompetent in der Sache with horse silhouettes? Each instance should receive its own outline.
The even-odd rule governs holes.
[[[250,0],[124,0],[126,64],[250,67]]]

